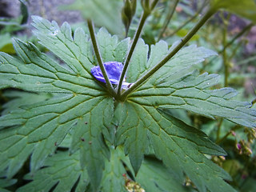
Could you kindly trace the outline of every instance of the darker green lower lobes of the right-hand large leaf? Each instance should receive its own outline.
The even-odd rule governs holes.
[[[125,102],[118,107],[122,107],[122,118],[118,125],[117,143],[124,143],[135,171],[141,166],[150,141],[157,157],[179,180],[185,172],[200,191],[216,191],[217,186],[218,189],[234,191],[222,180],[230,179],[230,176],[204,156],[225,155],[225,151],[210,142],[202,131],[153,106]]]

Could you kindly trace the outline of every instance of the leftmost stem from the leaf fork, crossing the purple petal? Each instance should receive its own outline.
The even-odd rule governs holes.
[[[105,69],[105,66],[103,65],[102,57],[101,57],[101,54],[98,49],[98,44],[97,44],[97,40],[96,40],[95,32],[94,32],[94,23],[90,19],[88,19],[87,25],[88,25],[88,28],[90,31],[90,38],[91,38],[91,42],[93,43],[94,53],[95,53],[97,61],[98,61],[98,66],[102,70],[103,77],[105,78],[105,81],[106,81],[106,89],[109,91],[110,94],[112,94],[113,97],[115,97],[116,93],[115,93],[114,88],[110,82],[110,79],[108,78],[108,76],[106,74],[106,69]]]

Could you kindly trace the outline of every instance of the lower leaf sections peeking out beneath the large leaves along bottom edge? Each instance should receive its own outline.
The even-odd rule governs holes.
[[[130,168],[130,162],[119,147],[111,149],[110,160],[106,159],[106,168],[103,171],[103,178],[100,191],[118,191],[126,192],[127,169]],[[124,163],[129,167],[125,167]],[[90,179],[79,163],[79,152],[70,155],[68,152],[58,152],[53,157],[46,159],[44,168],[38,170],[35,174],[27,174],[26,180],[30,180],[28,184],[18,189],[18,192],[26,191],[91,191]],[[166,170],[160,162],[147,160],[142,163],[142,171],[136,177],[136,181],[146,191],[188,191],[185,186],[177,182],[173,175]],[[150,176],[150,179],[148,178]],[[143,178],[147,179],[143,179]],[[163,178],[163,179],[160,179]],[[6,181],[5,185],[14,184],[15,180]],[[170,182],[172,185],[170,185]],[[1,186],[1,180],[0,180]]]

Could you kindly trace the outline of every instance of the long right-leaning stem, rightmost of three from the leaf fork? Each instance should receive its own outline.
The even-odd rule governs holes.
[[[186,36],[181,40],[181,42],[166,56],[166,58],[163,58],[162,61],[158,62],[156,66],[154,66],[151,70],[149,70],[146,74],[142,76],[142,78],[139,78],[137,82],[134,82],[134,85],[131,86],[128,90],[124,91],[121,95],[121,100],[125,100],[128,94],[133,92],[138,88],[138,86],[141,86],[143,82],[146,82],[148,78],[152,74],[154,74],[157,70],[159,70],[166,62],[170,60],[194,36],[196,32],[206,23],[206,21],[216,13],[216,10],[208,10],[206,14],[198,21],[198,23],[186,34]]]

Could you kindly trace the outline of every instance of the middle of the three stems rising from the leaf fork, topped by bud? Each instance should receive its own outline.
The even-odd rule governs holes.
[[[158,2],[158,0],[154,0],[150,10],[152,10],[154,8],[154,6],[156,5],[157,2]],[[137,31],[136,31],[136,33],[134,35],[134,40],[133,40],[133,42],[132,42],[132,44],[130,46],[130,50],[129,50],[128,54],[127,54],[126,61],[125,61],[125,64],[123,66],[123,69],[122,69],[122,74],[121,74],[121,76],[119,78],[118,95],[121,94],[122,82],[123,82],[123,80],[124,80],[124,78],[126,76],[126,70],[127,70],[128,66],[129,66],[130,59],[131,59],[131,57],[132,57],[132,55],[134,53],[134,49],[135,49],[135,46],[136,46],[136,44],[138,42],[138,38],[139,38],[140,34],[142,33],[142,28],[143,28],[143,26],[144,26],[144,24],[146,22],[146,18],[149,15],[150,15],[150,11],[146,11],[146,10],[143,11],[142,18],[141,18],[141,20],[139,22],[139,25],[138,25],[138,29],[137,29]]]

